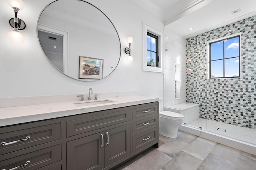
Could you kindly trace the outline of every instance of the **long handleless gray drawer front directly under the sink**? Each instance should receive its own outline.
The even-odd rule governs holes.
[[[94,114],[94,113],[92,113]],[[93,131],[130,120],[130,109],[81,118],[66,122],[67,137]]]

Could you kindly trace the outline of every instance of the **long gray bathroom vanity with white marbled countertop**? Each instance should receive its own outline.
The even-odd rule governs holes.
[[[153,145],[159,147],[158,98],[111,101],[0,108],[1,116],[9,114],[0,117],[0,170],[111,169]]]

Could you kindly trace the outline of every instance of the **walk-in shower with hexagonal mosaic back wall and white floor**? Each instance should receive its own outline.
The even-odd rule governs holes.
[[[187,123],[187,127],[226,136],[247,143],[256,150],[255,25],[256,16],[189,37],[186,46],[180,40],[166,42],[166,62],[175,63],[175,57],[180,55],[180,60],[183,61],[184,57],[186,63],[181,62],[179,66],[185,76],[180,74],[182,86],[178,88],[175,77],[168,76],[175,75],[175,64],[166,63],[165,110],[185,102],[199,104],[199,119]],[[240,76],[209,79],[208,42],[230,35],[240,36],[240,42],[230,44],[230,48],[240,48]],[[179,43],[184,45],[185,55],[180,48],[175,48]],[[238,43],[240,46],[237,46]],[[237,60],[232,62],[235,64]],[[168,65],[173,65],[174,69],[168,68]],[[182,95],[183,88],[185,97]],[[180,90],[180,98],[173,97],[177,90]]]

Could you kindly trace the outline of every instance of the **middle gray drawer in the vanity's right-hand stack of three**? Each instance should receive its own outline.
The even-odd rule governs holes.
[[[154,125],[158,125],[158,115],[153,116],[153,117],[147,117],[140,121],[133,122],[132,123],[132,133],[141,131],[148,127],[152,127]]]

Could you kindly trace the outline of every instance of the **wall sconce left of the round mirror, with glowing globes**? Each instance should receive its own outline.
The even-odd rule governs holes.
[[[25,29],[26,24],[24,23],[24,21],[18,18],[18,11],[24,8],[24,3],[22,2],[22,0],[9,0],[8,4],[14,10],[14,18],[11,18],[9,20],[9,23],[14,28],[14,30],[8,33],[8,38],[13,43],[21,44],[25,41],[25,37],[24,35],[22,35],[22,33],[19,32],[19,30]]]

